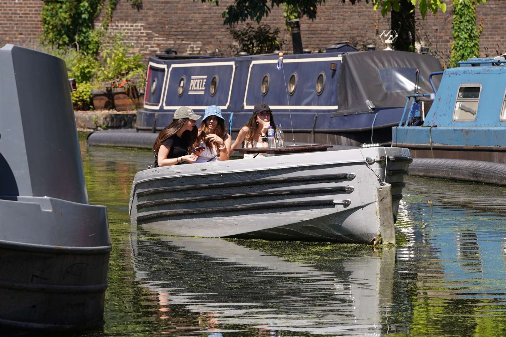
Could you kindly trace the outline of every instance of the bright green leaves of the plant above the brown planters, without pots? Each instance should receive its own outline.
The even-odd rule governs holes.
[[[121,35],[108,36],[101,46],[101,67],[98,80],[108,82],[113,87],[133,86],[133,78],[140,79],[139,87],[144,87],[145,65],[142,54],[129,56],[131,45],[122,42]]]

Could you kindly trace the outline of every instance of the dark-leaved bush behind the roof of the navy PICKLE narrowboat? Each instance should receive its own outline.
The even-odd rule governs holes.
[[[237,51],[251,55],[272,53],[280,50],[282,43],[278,40],[279,28],[271,31],[268,24],[258,25],[256,28],[249,22],[244,28],[231,28],[230,34],[239,43]]]

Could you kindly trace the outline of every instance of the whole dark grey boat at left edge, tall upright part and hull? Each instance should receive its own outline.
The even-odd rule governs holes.
[[[72,89],[63,60],[12,44],[0,49],[3,333],[104,323],[107,212],[88,201]]]

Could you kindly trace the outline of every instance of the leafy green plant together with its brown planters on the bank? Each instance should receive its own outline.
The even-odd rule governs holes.
[[[111,97],[117,111],[134,110],[141,104],[137,84],[144,87],[142,54],[129,56],[131,47],[116,34],[102,43],[99,80],[110,84],[104,95]]]

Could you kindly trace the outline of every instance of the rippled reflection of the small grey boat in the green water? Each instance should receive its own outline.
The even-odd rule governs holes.
[[[131,243],[136,279],[156,293],[158,318],[182,305],[203,316],[193,332],[215,335],[392,332],[395,249],[152,234],[134,233]]]

